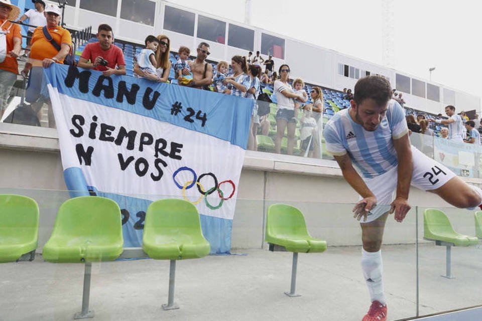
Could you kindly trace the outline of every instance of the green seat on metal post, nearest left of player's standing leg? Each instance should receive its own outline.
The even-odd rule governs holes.
[[[273,204],[268,208],[265,241],[269,243],[270,251],[293,252],[291,289],[285,294],[299,296],[296,294],[298,253],[324,252],[326,241],[311,237],[303,213],[296,207],[286,204]]]

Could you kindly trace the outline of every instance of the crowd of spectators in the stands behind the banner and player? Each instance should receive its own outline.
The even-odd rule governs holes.
[[[34,113],[40,118],[42,105],[49,104],[48,97],[42,95],[45,84],[39,81],[42,78],[42,68],[48,68],[53,63],[64,63],[64,59],[68,59],[72,52],[72,40],[69,31],[59,26],[61,11],[57,6],[46,6],[42,0],[33,2],[35,10],[29,10],[19,19],[20,22],[28,20],[31,25],[38,26],[29,28],[26,52],[30,52],[30,59],[21,74],[29,77],[26,101],[31,103]],[[7,55],[0,62],[0,84],[6,88],[0,96],[0,117],[18,74],[17,58],[20,56],[22,36],[20,26],[9,22],[17,20],[18,16],[18,7],[10,4],[9,0],[0,0],[0,23],[3,30],[10,31],[5,37]],[[207,61],[210,48],[205,42],[199,43],[192,54],[186,46],[181,46],[177,53],[172,53],[170,39],[166,35],[149,35],[144,45],[139,48],[115,43],[111,27],[101,24],[97,29],[96,41],[89,41],[79,48],[81,52],[78,54],[77,66],[101,71],[105,76],[143,77],[151,81],[170,82],[257,100],[248,149],[321,157],[324,147],[321,135],[323,123],[338,110],[349,107],[349,102],[353,99],[351,89],[344,88],[343,92],[337,92],[305,84],[301,78],[291,79],[291,70],[287,64],[281,65],[276,71],[272,55],[263,58],[260,51],[255,55],[253,52],[247,56],[235,55],[230,63],[219,61],[215,65]],[[401,92],[394,89],[393,99],[404,106]],[[268,107],[262,106],[268,112],[261,112],[259,106],[263,104],[269,104]],[[48,110],[48,124],[55,127],[52,108],[49,107]],[[409,114],[408,110],[407,113],[407,123],[412,132],[429,136],[452,136],[445,125],[450,127],[450,119],[456,117],[449,115],[449,119],[442,119],[439,114],[426,119],[422,113],[418,113],[417,118]],[[479,126],[474,129],[475,124],[468,120],[464,112],[455,116],[460,118],[460,122],[463,119],[467,126],[468,135],[467,132],[463,134],[468,137],[465,141],[479,142],[479,139],[471,137],[475,135],[474,131],[482,133],[482,123],[477,119],[476,124]]]

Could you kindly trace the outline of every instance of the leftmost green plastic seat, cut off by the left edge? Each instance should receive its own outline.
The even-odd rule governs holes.
[[[39,207],[33,199],[0,194],[0,263],[23,256],[35,258],[39,236]]]

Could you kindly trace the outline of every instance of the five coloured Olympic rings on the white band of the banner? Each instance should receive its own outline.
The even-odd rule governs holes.
[[[176,176],[182,172],[182,171],[188,171],[188,172],[191,172],[193,178],[192,180],[190,181],[187,181],[184,185],[181,185],[179,184],[177,181],[176,181]],[[202,186],[201,184],[201,179],[204,178],[205,176],[210,176],[213,180],[214,180],[214,186],[211,187],[210,189],[208,189],[206,191],[206,189]],[[178,168],[173,174],[172,174],[172,180],[174,181],[174,184],[176,184],[176,186],[182,190],[182,197],[184,198],[184,200],[188,201],[188,202],[191,202],[192,204],[199,204],[202,199],[204,199],[204,203],[206,204],[206,206],[211,209],[211,210],[217,210],[219,209],[221,206],[222,206],[222,203],[224,201],[227,201],[229,200],[233,195],[234,195],[234,191],[236,190],[236,186],[234,185],[234,183],[231,181],[231,180],[226,180],[226,181],[222,181],[220,183],[218,183],[217,181],[217,177],[212,174],[212,173],[204,173],[204,174],[201,174],[199,177],[197,176],[196,172],[194,172],[193,169],[189,168],[189,167],[180,167]],[[228,196],[228,197],[224,197],[224,193],[221,191],[221,185],[223,184],[231,184],[232,186],[232,192],[231,194]],[[186,197],[186,190],[189,190],[190,188],[194,187],[194,185],[197,187],[197,190],[199,191],[199,194],[201,195],[196,201],[192,202],[190,200],[187,199]],[[219,204],[216,205],[216,206],[213,206],[211,204],[209,204],[209,202],[207,201],[207,195],[211,195],[212,193],[214,192],[217,192],[217,195],[219,196]]]

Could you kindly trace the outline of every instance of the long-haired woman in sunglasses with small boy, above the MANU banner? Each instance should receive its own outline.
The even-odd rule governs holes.
[[[169,72],[171,71],[171,61],[169,60],[171,41],[165,35],[159,35],[156,38],[159,40],[159,46],[156,50],[156,73],[142,71],[138,64],[134,64],[134,72],[139,76],[152,81],[167,82],[169,79]]]

